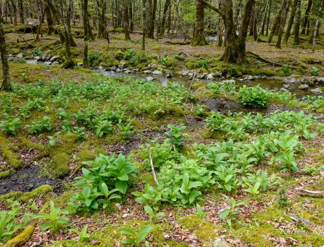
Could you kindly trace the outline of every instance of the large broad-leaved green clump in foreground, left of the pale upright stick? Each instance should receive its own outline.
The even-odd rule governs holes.
[[[82,168],[81,176],[74,186],[83,187],[83,191],[76,193],[71,200],[79,202],[80,210],[96,210],[106,208],[110,200],[120,198],[119,193],[125,194],[131,182],[130,177],[135,176],[137,167],[130,157],[115,153],[109,156],[99,155],[96,159],[83,162],[90,168]]]

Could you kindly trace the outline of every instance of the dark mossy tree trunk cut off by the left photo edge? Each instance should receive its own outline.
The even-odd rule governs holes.
[[[0,20],[2,21],[2,20]],[[0,87],[0,91],[11,91],[11,83],[9,77],[9,64],[8,64],[8,56],[6,51],[6,40],[4,37],[4,28],[0,23],[0,53],[1,53],[1,61],[2,61],[2,85]]]

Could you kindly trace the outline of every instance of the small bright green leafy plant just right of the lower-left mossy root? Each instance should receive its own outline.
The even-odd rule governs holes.
[[[45,219],[45,223],[40,226],[41,231],[52,229],[53,232],[57,232],[69,223],[69,218],[62,216],[68,214],[68,211],[60,210],[58,207],[55,207],[54,202],[51,200],[50,213],[40,212],[38,215],[35,215],[34,219]]]

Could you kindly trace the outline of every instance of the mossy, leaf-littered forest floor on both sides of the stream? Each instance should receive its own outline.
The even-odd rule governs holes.
[[[104,40],[90,43],[91,52],[99,54],[95,56],[94,63],[117,65],[120,63],[118,53],[125,56],[129,49],[135,49],[139,60],[135,59],[132,66],[138,68],[146,66],[146,63],[156,63],[163,68],[180,70],[196,68],[197,61],[207,60],[209,71],[245,69],[241,66],[234,68],[233,65],[217,64],[216,58],[223,49],[216,45],[199,49],[168,45],[165,44],[166,40],[148,41],[146,47],[149,60],[143,62],[144,65],[142,62],[136,64],[141,61],[140,37],[133,35],[132,38],[132,42],[125,42],[121,35],[115,35],[109,46]],[[8,34],[8,39],[14,41],[16,37]],[[75,59],[81,61],[78,51],[82,43],[81,40],[76,42],[78,48],[74,51]],[[23,51],[28,55],[35,47],[62,53],[63,47],[53,44],[53,40],[32,43],[32,47],[24,47],[26,44],[12,42],[8,45],[9,53]],[[282,52],[268,44],[248,42],[247,49],[267,59],[297,66],[301,71],[296,73],[302,75],[302,71],[311,69],[312,61],[323,61],[323,50],[311,54],[308,48],[290,46],[285,48],[282,55]],[[306,51],[308,54],[296,51]],[[190,54],[192,59],[185,54]],[[168,57],[169,64],[161,64],[161,56]],[[262,66],[261,72],[258,66]],[[282,73],[281,67],[269,64],[258,66],[250,64],[249,74]],[[280,171],[276,164],[268,164],[269,160],[265,160],[253,169],[267,169],[280,178],[279,184],[256,195],[243,191],[242,188],[235,194],[227,193],[237,201],[248,202],[247,205],[238,207],[241,212],[233,218],[231,227],[226,219],[219,217],[220,210],[228,206],[228,201],[223,197],[226,191],[216,185],[202,191],[201,200],[195,200],[190,205],[161,203],[160,211],[165,215],[153,222],[143,205],[137,203],[136,196],[132,195],[134,191],[144,191],[146,183],[154,185],[147,152],[150,146],[154,146],[152,140],[163,143],[169,138],[166,135],[169,130],[167,125],[183,123],[187,128],[183,131],[185,139],[180,153],[190,158],[196,157],[199,150],[195,143],[214,145],[230,139],[231,136],[212,131],[206,126],[204,119],[215,110],[215,102],[239,104],[237,90],[215,93],[204,83],[169,83],[165,87],[156,82],[148,83],[133,78],[110,78],[83,68],[64,70],[59,65],[30,65],[11,61],[10,67],[14,90],[0,92],[0,122],[18,119],[19,124],[15,128],[16,133],[0,131],[0,181],[11,178],[20,169],[33,171],[35,180],[45,177],[48,181],[45,179],[44,184],[36,188],[30,182],[25,184],[23,178],[11,181],[11,188],[1,191],[1,210],[10,210],[12,200],[17,200],[21,211],[16,220],[20,222],[23,222],[26,212],[35,214],[42,207],[42,210],[48,212],[48,207],[44,205],[50,200],[54,201],[56,207],[70,211],[69,225],[55,233],[51,230],[41,231],[42,220],[31,219],[29,224],[25,222],[25,227],[14,234],[16,241],[25,242],[24,246],[32,246],[39,241],[46,246],[122,246],[125,239],[122,230],[138,231],[146,225],[154,226],[154,230],[146,237],[149,246],[324,245],[323,194],[316,198],[300,192],[324,191],[324,138],[323,123],[320,123],[324,109],[323,104],[316,103],[316,100],[305,102],[275,92],[270,96],[267,110],[241,106],[245,112],[262,114],[273,112],[274,109],[289,109],[294,112],[303,110],[306,114],[315,114],[318,121],[310,129],[317,136],[311,139],[299,138],[305,150],[296,156],[298,172]],[[103,122],[107,119],[110,123],[102,127],[104,123],[107,124]],[[130,123],[130,134],[119,123]],[[102,135],[100,131],[103,131]],[[262,133],[254,133],[251,138],[255,135]],[[54,143],[50,140],[54,140]],[[250,138],[247,142],[249,140]],[[122,195],[122,199],[112,200],[105,210],[75,210],[70,198],[81,191],[73,186],[73,179],[81,175],[82,167],[87,167],[82,162],[112,152],[132,155],[134,159],[137,176],[132,179],[129,191]],[[305,167],[308,169],[303,170]],[[47,184],[50,180],[55,181],[52,186]],[[17,191],[16,188],[19,187],[16,187],[16,183],[23,183],[29,189],[27,192]],[[282,188],[285,188],[284,193],[280,192]],[[33,203],[35,205],[31,207]],[[197,215],[196,203],[202,206],[202,211],[206,213],[204,217]],[[86,241],[81,241],[74,231],[69,231],[71,228],[81,230],[86,224],[90,234]],[[9,241],[5,246],[13,246],[13,242]],[[139,246],[144,246],[144,242],[139,243]]]

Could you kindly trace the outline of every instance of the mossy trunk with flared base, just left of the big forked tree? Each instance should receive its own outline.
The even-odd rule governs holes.
[[[208,44],[204,38],[204,4],[196,0],[196,23],[192,41],[192,46],[203,46]]]

